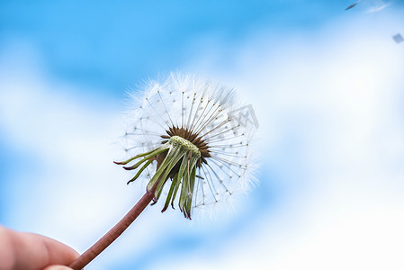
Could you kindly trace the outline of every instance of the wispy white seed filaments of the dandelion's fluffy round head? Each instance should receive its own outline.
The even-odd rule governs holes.
[[[129,113],[125,133],[128,156],[160,146],[166,130],[184,128],[198,133],[209,146],[211,157],[196,171],[193,208],[223,202],[234,193],[247,190],[251,183],[250,139],[254,125],[238,119],[243,107],[233,90],[191,75],[171,74],[165,81],[148,81],[131,93],[136,108]],[[243,115],[241,114],[241,117]],[[156,171],[156,162],[143,177]]]

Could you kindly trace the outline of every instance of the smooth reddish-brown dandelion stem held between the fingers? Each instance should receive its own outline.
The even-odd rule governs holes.
[[[100,255],[103,250],[110,246],[116,238],[118,238],[125,229],[128,229],[130,224],[136,220],[139,214],[145,210],[148,203],[154,197],[154,193],[152,191],[147,191],[139,200],[138,203],[133,206],[130,211],[118,222],[112,229],[110,229],[102,238],[100,238],[95,244],[88,248],[85,253],[83,253],[80,257],[77,257],[76,260],[70,264],[70,268],[74,270],[80,270],[88,265],[94,257]]]

